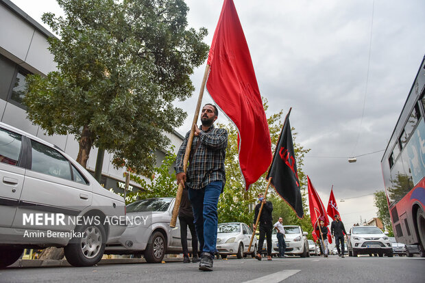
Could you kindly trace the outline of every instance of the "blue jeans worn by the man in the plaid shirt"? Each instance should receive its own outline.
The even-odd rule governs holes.
[[[192,204],[193,216],[195,217],[195,229],[199,240],[199,250],[208,252],[214,256],[217,250],[217,204],[222,181],[215,181],[202,189],[189,188],[189,200]]]

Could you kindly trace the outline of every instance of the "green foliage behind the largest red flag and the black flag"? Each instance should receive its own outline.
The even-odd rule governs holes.
[[[267,113],[267,100],[263,99],[264,109]],[[267,122],[271,137],[271,144],[276,147],[280,131],[283,124],[283,111],[274,113]],[[243,178],[239,169],[238,148],[237,148],[237,131],[233,124],[218,124],[217,127],[228,131],[228,148],[226,150],[226,186],[224,192],[219,198],[218,213],[219,222],[240,221],[246,224],[252,224],[254,218],[254,207],[257,203],[259,192],[265,192],[267,182],[265,176],[267,172],[261,176],[258,181],[250,187],[249,191],[245,191]],[[294,129],[292,129],[294,130]],[[304,202],[304,211],[306,212],[306,174],[302,170],[304,165],[304,155],[309,151],[304,149],[300,144],[295,143],[297,133],[293,133],[295,159],[297,161],[298,176],[302,188],[302,196]],[[272,148],[274,150],[274,148]],[[274,221],[278,221],[278,217],[284,219],[284,224],[300,225],[306,232],[311,231],[310,217],[305,213],[303,219],[298,219],[292,208],[286,204],[275,192],[269,187],[267,198],[271,200],[274,206]],[[309,227],[309,226],[310,227]]]

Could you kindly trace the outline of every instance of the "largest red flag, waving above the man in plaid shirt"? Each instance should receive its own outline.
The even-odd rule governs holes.
[[[239,165],[249,189],[271,163],[271,141],[250,50],[232,0],[223,3],[207,64],[206,89],[239,131]]]

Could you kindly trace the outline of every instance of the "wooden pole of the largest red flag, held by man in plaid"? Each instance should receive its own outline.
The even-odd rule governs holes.
[[[199,90],[199,97],[197,98],[196,111],[195,111],[195,116],[193,116],[191,133],[189,135],[189,139],[187,140],[186,152],[184,152],[183,171],[184,171],[185,174],[186,174],[186,170],[187,170],[187,163],[189,161],[189,155],[191,154],[193,135],[195,135],[195,124],[196,124],[197,118],[199,116],[199,109],[201,109],[202,96],[204,96],[204,88],[205,88],[206,79],[208,77],[209,70],[210,70],[210,65],[207,64],[206,67],[205,67],[204,79],[202,79],[201,90]],[[170,221],[170,227],[171,228],[174,228],[175,222],[177,222],[178,211],[180,209],[180,202],[182,201],[182,191],[183,191],[183,186],[182,186],[182,184],[179,184],[178,189],[177,189],[177,194],[175,195],[173,215],[171,215],[171,221]]]

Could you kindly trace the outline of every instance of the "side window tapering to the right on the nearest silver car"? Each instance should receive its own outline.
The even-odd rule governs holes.
[[[58,150],[33,140],[31,141],[31,144],[32,170],[42,174],[64,178],[66,180],[72,180],[69,161],[62,154],[60,154]]]

